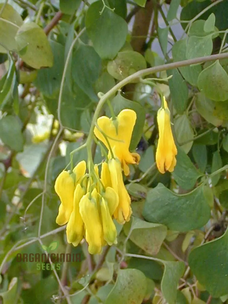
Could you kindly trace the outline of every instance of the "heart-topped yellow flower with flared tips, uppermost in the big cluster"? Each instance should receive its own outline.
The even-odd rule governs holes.
[[[127,164],[138,164],[140,161],[139,154],[129,152],[135,122],[136,113],[130,109],[124,109],[119,112],[116,120],[108,118],[107,116],[99,117],[97,120],[99,128],[108,138],[113,153],[119,158],[125,175],[128,175],[130,172]],[[102,132],[95,127],[95,136],[105,144],[107,149],[109,149],[109,145]],[[109,151],[109,157],[110,155]]]

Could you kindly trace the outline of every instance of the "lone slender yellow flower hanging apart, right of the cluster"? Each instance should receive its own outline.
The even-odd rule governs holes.
[[[170,112],[166,100],[164,99],[165,109],[160,108],[157,112],[157,123],[159,139],[156,151],[157,168],[161,173],[172,172],[176,165],[177,148],[174,143],[170,125]]]

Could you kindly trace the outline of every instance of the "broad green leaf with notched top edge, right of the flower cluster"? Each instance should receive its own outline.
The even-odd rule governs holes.
[[[210,207],[204,197],[203,187],[178,195],[159,183],[147,193],[143,216],[151,223],[160,223],[170,230],[184,232],[205,225],[210,219]]]

